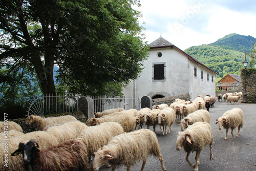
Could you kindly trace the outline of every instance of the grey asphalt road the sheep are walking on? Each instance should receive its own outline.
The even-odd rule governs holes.
[[[219,130],[218,124],[215,124],[217,118],[219,118],[227,110],[233,108],[240,108],[244,112],[244,127],[240,131],[240,136],[232,137],[231,130],[228,131],[228,137],[225,141],[226,130]],[[213,159],[209,160],[210,148],[205,146],[200,154],[200,171],[222,171],[222,170],[256,170],[256,104],[241,103],[231,105],[226,102],[215,103],[214,108],[209,109],[211,117],[211,130],[214,135],[214,145],[212,147]],[[143,128],[146,128],[143,125]],[[153,126],[150,127],[153,131]],[[156,134],[161,146],[161,152],[164,159],[164,165],[167,170],[193,170],[187,161],[185,160],[186,153],[182,148],[181,151],[176,151],[177,133],[180,131],[178,124],[172,125],[172,131],[167,136],[162,136],[160,126],[156,127]],[[234,135],[237,134],[237,129],[234,130]],[[191,153],[189,160],[195,163],[196,152]],[[142,161],[131,167],[131,170],[140,170]],[[99,170],[111,170],[111,167],[107,168],[102,166]],[[116,170],[125,171],[125,166],[120,166]],[[145,171],[162,170],[158,159],[153,156],[147,158],[145,164]]]

